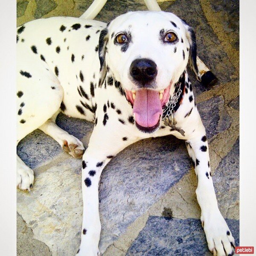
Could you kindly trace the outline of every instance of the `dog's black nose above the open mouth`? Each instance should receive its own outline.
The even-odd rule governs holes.
[[[157,76],[157,64],[146,58],[136,59],[131,63],[130,74],[135,80],[145,84]]]

